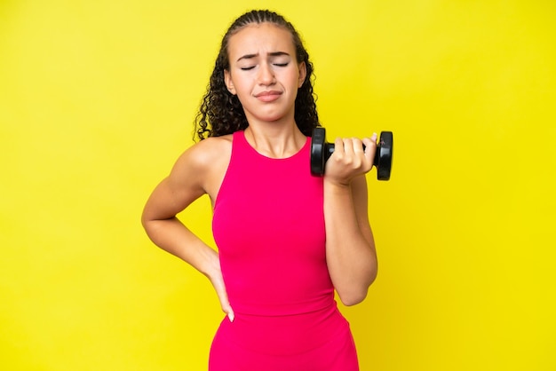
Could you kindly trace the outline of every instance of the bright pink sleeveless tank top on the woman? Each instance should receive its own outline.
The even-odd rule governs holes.
[[[335,305],[326,265],[322,178],[311,176],[310,138],[273,159],[234,133],[212,231],[236,313],[290,315]]]

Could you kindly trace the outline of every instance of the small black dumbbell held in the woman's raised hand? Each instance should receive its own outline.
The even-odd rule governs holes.
[[[324,175],[324,165],[334,152],[334,143],[327,143],[325,134],[326,130],[324,128],[314,128],[311,138],[311,174],[316,177]],[[392,154],[393,133],[392,131],[381,131],[373,162],[373,165],[377,167],[378,180],[390,179]]]

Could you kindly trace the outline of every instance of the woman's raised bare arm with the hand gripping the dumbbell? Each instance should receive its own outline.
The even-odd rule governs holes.
[[[353,144],[355,148],[361,146],[360,141],[355,142]],[[357,165],[359,170],[351,172],[351,174],[359,172],[358,175],[353,178],[348,177],[347,182],[338,182],[338,177],[328,175],[324,178],[327,264],[338,296],[346,305],[361,303],[367,296],[369,286],[377,277],[377,253],[369,224],[365,178],[365,173],[372,168],[371,159],[374,157],[375,148],[369,148],[372,143],[370,140],[365,142],[368,148],[365,157],[361,157],[357,151],[353,153],[351,142],[350,146],[346,146],[346,151],[343,151],[341,145],[346,143],[337,141],[336,147],[341,148],[340,151],[337,149],[338,159],[336,163],[334,161],[330,163],[330,166],[327,164],[332,168],[330,173],[334,173],[334,168],[346,171],[346,157],[359,156],[362,159],[361,164]],[[335,154],[330,157],[330,160]],[[353,164],[353,159],[348,159],[347,162]]]

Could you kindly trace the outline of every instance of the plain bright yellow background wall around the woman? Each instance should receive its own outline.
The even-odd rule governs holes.
[[[229,23],[282,12],[328,138],[393,130],[369,174],[379,276],[361,370],[554,370],[556,3],[3,0],[0,369],[203,370],[208,280],[147,240]],[[210,205],[183,219],[210,239]]]

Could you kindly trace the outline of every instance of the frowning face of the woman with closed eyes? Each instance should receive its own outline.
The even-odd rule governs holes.
[[[271,23],[252,24],[231,36],[226,87],[250,122],[293,120],[306,65],[298,63],[290,32]]]

